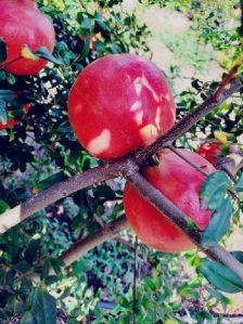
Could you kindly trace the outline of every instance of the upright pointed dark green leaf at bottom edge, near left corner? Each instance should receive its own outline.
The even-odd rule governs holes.
[[[43,284],[35,289],[31,299],[33,313],[36,324],[56,323],[56,300],[51,296]]]

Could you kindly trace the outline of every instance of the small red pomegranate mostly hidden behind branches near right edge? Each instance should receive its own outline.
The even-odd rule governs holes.
[[[196,153],[203,156],[204,158],[206,158],[209,163],[216,164],[220,155],[222,155],[222,147],[223,147],[223,143],[219,141],[215,141],[210,143],[206,142],[200,145]],[[229,153],[235,153],[235,152],[236,152],[235,145],[230,144]]]

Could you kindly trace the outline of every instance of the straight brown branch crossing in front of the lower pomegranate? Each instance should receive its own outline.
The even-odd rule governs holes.
[[[162,211],[166,218],[172,222],[180,231],[182,231],[189,239],[191,239],[199,249],[203,250],[209,258],[218,260],[222,264],[231,269],[243,281],[243,264],[233,258],[222,247],[205,247],[201,244],[201,233],[192,230],[188,224],[188,217],[180,209],[178,209],[169,199],[166,198],[158,190],[150,184],[138,172],[126,172],[124,176],[130,183],[150,202],[157,210]]]

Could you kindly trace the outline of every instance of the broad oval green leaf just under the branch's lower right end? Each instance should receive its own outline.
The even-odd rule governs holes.
[[[243,282],[240,277],[218,261],[203,259],[200,271],[219,290],[232,294],[243,290]]]

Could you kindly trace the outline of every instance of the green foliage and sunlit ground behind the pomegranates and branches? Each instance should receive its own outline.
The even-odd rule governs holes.
[[[21,119],[23,104],[30,104],[20,125],[0,131],[0,212],[55,182],[101,164],[76,141],[66,107],[72,83],[93,60],[129,51],[150,57],[151,37],[163,41],[182,61],[168,64],[166,69],[179,119],[218,85],[218,79],[205,82],[203,77],[212,53],[222,70],[241,55],[241,28],[234,1],[206,1],[205,4],[193,0],[141,1],[130,10],[125,4],[107,0],[38,1],[40,10],[54,24],[54,55],[62,64],[50,63],[39,75],[25,78],[0,70],[0,119],[7,117],[5,105],[10,116]],[[190,29],[176,34],[165,26],[153,35],[141,18],[151,8],[184,15]],[[93,34],[99,39],[91,43]],[[184,65],[199,74],[190,78],[190,88],[182,89],[177,82],[183,76]],[[13,99],[16,92],[18,96]],[[231,133],[231,142],[241,147],[241,95],[219,106],[175,144],[195,150],[203,139],[214,138],[218,130]],[[222,177],[218,181],[223,181]],[[107,222],[123,212],[123,186],[118,179],[77,192],[0,236],[1,323],[131,323],[135,235],[129,230],[120,235],[130,245],[117,239],[106,242],[66,271],[57,259],[77,238],[100,229],[101,221]],[[207,194],[212,194],[210,182],[207,186]],[[226,190],[227,186],[225,193]],[[232,208],[233,220],[229,220],[222,242],[235,229],[242,230],[242,206],[234,203]],[[221,235],[222,232],[219,238]],[[208,243],[206,234],[204,238]],[[238,258],[241,257],[239,254]],[[210,280],[214,267],[219,275],[216,273],[215,285],[209,286],[202,273]],[[222,277],[225,269],[201,259],[197,252],[166,255],[139,244],[138,270],[138,323],[183,323],[181,315],[203,323],[205,319],[212,321],[216,306],[221,304],[223,311],[233,306],[232,299],[220,291],[226,290],[226,283],[233,281],[232,274]]]

